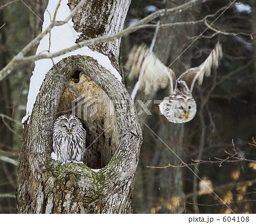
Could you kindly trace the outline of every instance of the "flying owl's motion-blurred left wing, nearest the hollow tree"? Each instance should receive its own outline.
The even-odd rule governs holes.
[[[126,67],[130,69],[130,79],[139,77],[140,87],[145,89],[146,94],[151,90],[156,92],[158,89],[166,88],[169,80],[171,93],[174,91],[176,84],[174,72],[167,68],[153,52],[148,51],[146,45],[133,47],[129,53]]]

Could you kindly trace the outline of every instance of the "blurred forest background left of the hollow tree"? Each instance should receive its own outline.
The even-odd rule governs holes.
[[[0,23],[3,26],[0,30],[0,66],[2,69],[41,32],[47,1],[1,0],[0,5]],[[35,50],[36,47],[34,52]],[[22,65],[0,82],[1,213],[13,213],[15,209],[16,166],[18,165],[23,132],[21,119],[26,113],[27,93],[32,70],[33,65]]]

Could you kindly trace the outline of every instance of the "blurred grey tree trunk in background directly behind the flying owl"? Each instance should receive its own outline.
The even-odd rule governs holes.
[[[177,0],[175,4],[182,5],[184,0]],[[175,7],[173,3],[166,3],[166,7]],[[163,16],[161,22],[174,23],[185,20],[193,20],[194,16],[188,11],[176,14]],[[194,19],[195,20],[195,19]],[[191,31],[192,30],[192,31]],[[154,53],[159,59],[170,66],[176,74],[176,78],[180,76],[184,70],[191,66],[191,49],[188,49],[181,55],[187,45],[187,36],[195,35],[195,27],[164,27],[159,28],[158,38],[156,39]],[[168,96],[166,92],[166,96]],[[170,122],[162,122],[159,128],[158,136],[162,139],[168,147],[167,148],[161,140],[158,140],[159,146],[162,150],[159,155],[159,166],[167,164],[179,165],[183,155],[183,140],[184,140],[184,124],[175,124]],[[159,171],[159,193],[163,198],[164,206],[160,213],[182,213],[184,205],[181,201],[183,196],[183,181],[181,168],[167,168]]]

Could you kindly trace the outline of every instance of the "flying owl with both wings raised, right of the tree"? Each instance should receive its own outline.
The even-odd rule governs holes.
[[[177,80],[174,71],[167,68],[145,46],[132,50],[127,66],[131,67],[129,77],[139,76],[137,84],[145,88],[146,94],[152,90],[156,91],[171,85],[171,94],[169,97],[164,97],[159,104],[159,110],[168,121],[185,123],[191,121],[196,114],[196,102],[192,96],[196,80],[201,85],[204,75],[209,76],[210,69],[218,67],[221,57],[221,45],[217,43],[203,64],[186,70]],[[132,93],[131,96],[134,96],[134,94]]]

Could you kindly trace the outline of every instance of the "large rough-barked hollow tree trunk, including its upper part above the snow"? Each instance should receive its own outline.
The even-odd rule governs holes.
[[[76,3],[75,0],[69,1],[71,10]],[[83,33],[78,41],[122,30],[129,4],[130,1],[125,0],[87,1],[73,17],[74,28]],[[92,49],[109,56],[113,66],[118,68],[119,40]],[[56,68],[47,73],[30,122],[24,125],[16,211],[131,213],[134,176],[142,143],[141,126],[133,101],[113,74],[91,57],[70,56],[57,63]],[[80,96],[91,98],[97,92],[106,105],[108,100],[113,103],[115,114],[112,117],[108,116],[108,108],[100,106],[94,119],[90,116],[82,119],[88,136],[96,140],[96,145],[89,148],[89,167],[81,163],[61,165],[51,159],[53,123],[57,114],[71,109],[73,100],[73,93],[69,94],[71,91],[64,82],[56,79],[60,74],[73,84]],[[80,81],[82,85],[78,85]],[[111,132],[106,120],[114,126],[116,124],[110,128]]]

